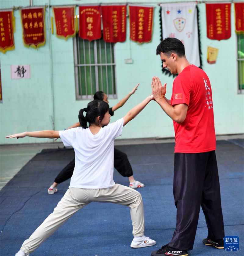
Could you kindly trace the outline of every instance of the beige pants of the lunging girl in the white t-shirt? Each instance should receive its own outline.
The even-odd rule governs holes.
[[[32,253],[42,242],[62,226],[73,214],[91,202],[116,203],[130,207],[134,237],[144,234],[144,209],[141,194],[129,187],[115,184],[113,188],[69,188],[53,213],[25,240],[20,248]]]

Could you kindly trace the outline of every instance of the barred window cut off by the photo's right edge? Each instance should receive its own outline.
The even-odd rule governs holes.
[[[244,35],[237,35],[238,92],[244,93]]]

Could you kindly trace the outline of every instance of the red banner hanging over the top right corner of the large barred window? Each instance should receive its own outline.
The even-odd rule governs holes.
[[[103,5],[102,26],[105,42],[124,42],[126,39],[126,5]]]

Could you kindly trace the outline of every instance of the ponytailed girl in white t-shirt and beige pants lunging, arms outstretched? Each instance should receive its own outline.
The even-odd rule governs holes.
[[[65,146],[75,151],[75,169],[69,189],[53,213],[25,240],[16,256],[32,253],[73,214],[91,202],[108,202],[130,208],[134,239],[131,247],[141,248],[156,242],[144,236],[144,210],[141,194],[113,181],[114,139],[121,136],[123,126],[133,119],[153,99],[150,95],[132,108],[123,118],[110,122],[109,105],[105,101],[91,101],[79,112],[81,127],[64,131],[17,133],[6,138],[61,138]],[[86,112],[86,116],[84,116]],[[89,127],[87,126],[89,123]]]

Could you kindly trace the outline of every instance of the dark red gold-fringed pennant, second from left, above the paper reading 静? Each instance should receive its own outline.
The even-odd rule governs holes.
[[[27,47],[45,45],[45,8],[20,9],[23,42]]]

